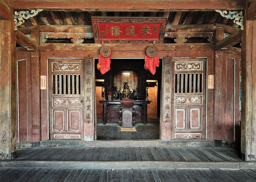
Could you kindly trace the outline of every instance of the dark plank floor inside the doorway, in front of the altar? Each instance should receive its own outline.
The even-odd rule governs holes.
[[[136,132],[120,131],[117,122],[108,122],[103,125],[97,119],[97,140],[155,140],[159,139],[159,119],[148,119],[146,125],[136,122]]]

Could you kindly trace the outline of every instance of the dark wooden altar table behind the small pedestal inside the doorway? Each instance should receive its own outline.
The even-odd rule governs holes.
[[[133,105],[133,121],[143,122],[146,125],[147,122],[147,104],[150,104],[150,100],[132,100]],[[103,123],[108,121],[120,121],[122,117],[121,100],[99,100],[99,103],[103,104]]]

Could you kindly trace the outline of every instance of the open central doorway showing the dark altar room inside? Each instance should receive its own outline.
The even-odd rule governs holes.
[[[97,70],[95,91],[97,140],[153,140],[160,136],[162,59],[156,73],[144,69],[144,59],[111,59],[104,75]],[[130,94],[122,94],[128,84]],[[121,103],[131,99],[132,128],[125,130]],[[148,101],[147,101],[148,100]],[[129,112],[129,111],[126,111]]]

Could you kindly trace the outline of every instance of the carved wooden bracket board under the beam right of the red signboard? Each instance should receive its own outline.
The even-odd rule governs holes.
[[[165,37],[174,39],[176,43],[186,43],[191,37],[203,37],[211,43],[214,42],[214,32],[165,32]]]

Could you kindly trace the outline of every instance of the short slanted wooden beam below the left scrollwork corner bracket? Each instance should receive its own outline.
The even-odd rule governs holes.
[[[20,31],[16,31],[16,43],[25,47],[28,51],[38,52],[38,44]]]

